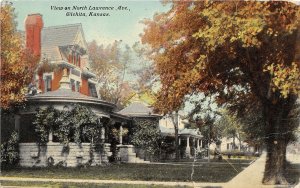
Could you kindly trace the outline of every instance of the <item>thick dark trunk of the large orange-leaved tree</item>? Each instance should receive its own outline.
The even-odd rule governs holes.
[[[291,103],[290,103],[291,104]],[[264,106],[266,123],[267,161],[265,164],[264,184],[287,184],[284,177],[286,166],[286,147],[291,139],[288,114],[293,105],[285,101]]]

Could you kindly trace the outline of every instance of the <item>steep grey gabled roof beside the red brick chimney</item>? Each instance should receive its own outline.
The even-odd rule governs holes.
[[[79,34],[83,34],[81,24],[45,27],[42,30],[42,55],[51,60],[62,60],[59,46],[74,45]],[[83,36],[83,40],[84,36]],[[84,43],[86,43],[84,41]]]

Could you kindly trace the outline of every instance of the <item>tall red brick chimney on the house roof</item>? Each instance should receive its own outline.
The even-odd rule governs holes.
[[[44,26],[41,14],[28,14],[25,19],[26,48],[41,55],[41,31]]]

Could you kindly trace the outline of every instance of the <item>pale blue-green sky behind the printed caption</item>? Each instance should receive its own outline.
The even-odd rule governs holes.
[[[144,25],[140,23],[144,18],[152,18],[156,12],[168,10],[158,0],[150,1],[107,1],[107,0],[13,0],[17,13],[18,30],[24,30],[26,15],[40,13],[43,15],[44,27],[81,23],[87,42],[96,40],[99,44],[109,44],[114,40],[122,40],[130,46],[139,41],[139,34]],[[52,6],[52,9],[51,9]],[[71,7],[71,10],[55,10],[55,7]],[[73,6],[87,7],[87,10],[74,10]],[[89,7],[114,7],[111,11],[93,11]],[[127,10],[118,10],[118,7]],[[73,10],[72,10],[73,9]],[[67,12],[109,13],[110,16],[66,16]]]

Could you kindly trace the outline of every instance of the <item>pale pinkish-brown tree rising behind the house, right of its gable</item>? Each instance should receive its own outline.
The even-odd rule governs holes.
[[[91,69],[96,73],[97,82],[100,84],[101,98],[122,106],[123,93],[129,93],[125,75],[128,64],[131,62],[131,48],[125,45],[123,49],[121,41],[112,44],[98,45],[96,41],[88,44],[91,58]]]

